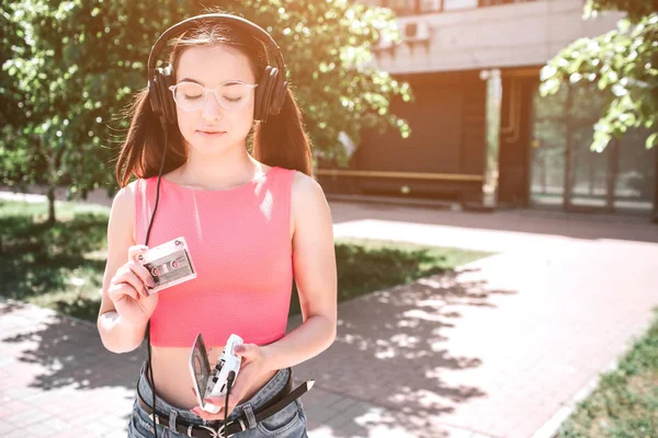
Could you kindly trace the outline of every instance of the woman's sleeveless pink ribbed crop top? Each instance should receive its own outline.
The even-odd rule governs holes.
[[[160,181],[149,247],[184,237],[197,277],[158,292],[150,319],[155,346],[207,346],[235,333],[265,345],[285,335],[293,286],[290,232],[295,171],[272,168],[228,191],[194,189]],[[158,176],[137,180],[135,241],[144,244]]]

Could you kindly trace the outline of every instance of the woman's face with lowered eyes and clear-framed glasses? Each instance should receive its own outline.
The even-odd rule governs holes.
[[[214,89],[229,82],[217,94],[231,110],[223,107],[212,92],[196,110],[185,111],[177,105],[179,129],[189,147],[204,154],[215,154],[232,147],[243,148],[253,123],[256,89],[232,84],[232,81],[256,83],[247,56],[227,45],[190,47],[179,58],[175,78],[177,83],[188,84],[177,89],[177,99],[186,102],[188,107],[198,106],[203,101],[203,90],[191,89],[190,83]]]

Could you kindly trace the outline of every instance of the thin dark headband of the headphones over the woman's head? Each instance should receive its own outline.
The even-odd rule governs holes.
[[[268,46],[268,48],[270,48],[270,50],[274,53],[274,60],[276,61],[279,73],[282,74],[283,80],[285,80],[285,64],[283,61],[283,55],[281,54],[281,49],[274,41],[274,38],[272,38],[272,36],[268,32],[265,32],[264,28],[241,16],[222,13],[209,13],[183,20],[180,23],[177,23],[173,26],[169,27],[158,37],[156,44],[154,44],[154,46],[151,47],[151,51],[148,56],[147,74],[149,84],[151,83],[155,76],[154,73],[156,70],[156,62],[158,60],[157,57],[158,55],[160,55],[160,51],[162,51],[162,48],[167,44],[167,42],[170,38],[178,36],[183,32],[194,27],[196,24],[204,22],[228,23],[247,31],[252,36],[260,35],[261,37],[258,39],[264,43],[265,46]]]

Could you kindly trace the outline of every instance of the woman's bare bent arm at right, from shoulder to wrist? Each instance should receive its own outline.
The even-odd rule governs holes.
[[[262,347],[265,368],[293,367],[336,339],[337,274],[331,211],[320,185],[296,172],[292,189],[293,265],[304,323]]]

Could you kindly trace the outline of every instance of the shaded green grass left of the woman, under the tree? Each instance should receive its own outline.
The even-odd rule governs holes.
[[[0,295],[94,321],[106,256],[109,209],[0,201]]]

